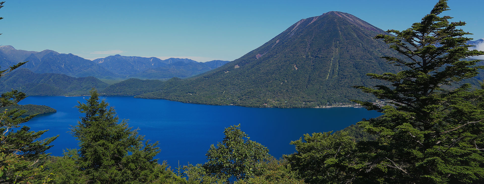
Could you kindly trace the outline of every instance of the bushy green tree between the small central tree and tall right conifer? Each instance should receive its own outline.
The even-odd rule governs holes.
[[[291,142],[297,153],[284,157],[307,183],[349,183],[355,171],[353,139],[346,131],[304,134],[304,139]]]

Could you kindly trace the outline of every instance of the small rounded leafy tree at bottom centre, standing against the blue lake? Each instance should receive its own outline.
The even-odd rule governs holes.
[[[188,166],[186,173],[191,181],[199,183],[232,183],[252,177],[263,170],[261,162],[270,157],[269,149],[251,141],[240,125],[224,130],[225,138],[207,151],[208,161]]]

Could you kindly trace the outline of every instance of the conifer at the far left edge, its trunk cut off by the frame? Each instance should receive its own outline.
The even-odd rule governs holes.
[[[0,8],[4,2],[0,2]],[[3,19],[0,17],[0,19]],[[12,72],[27,62],[21,62],[8,69],[0,70],[0,77]],[[37,114],[22,117],[27,110],[18,108],[6,109],[4,107],[16,105],[27,95],[16,90],[4,92],[0,95],[0,184],[15,183],[45,183],[51,181],[45,175],[44,166],[38,161],[48,156],[45,151],[57,136],[40,140],[45,131],[30,131],[28,126],[20,124],[29,121]]]

